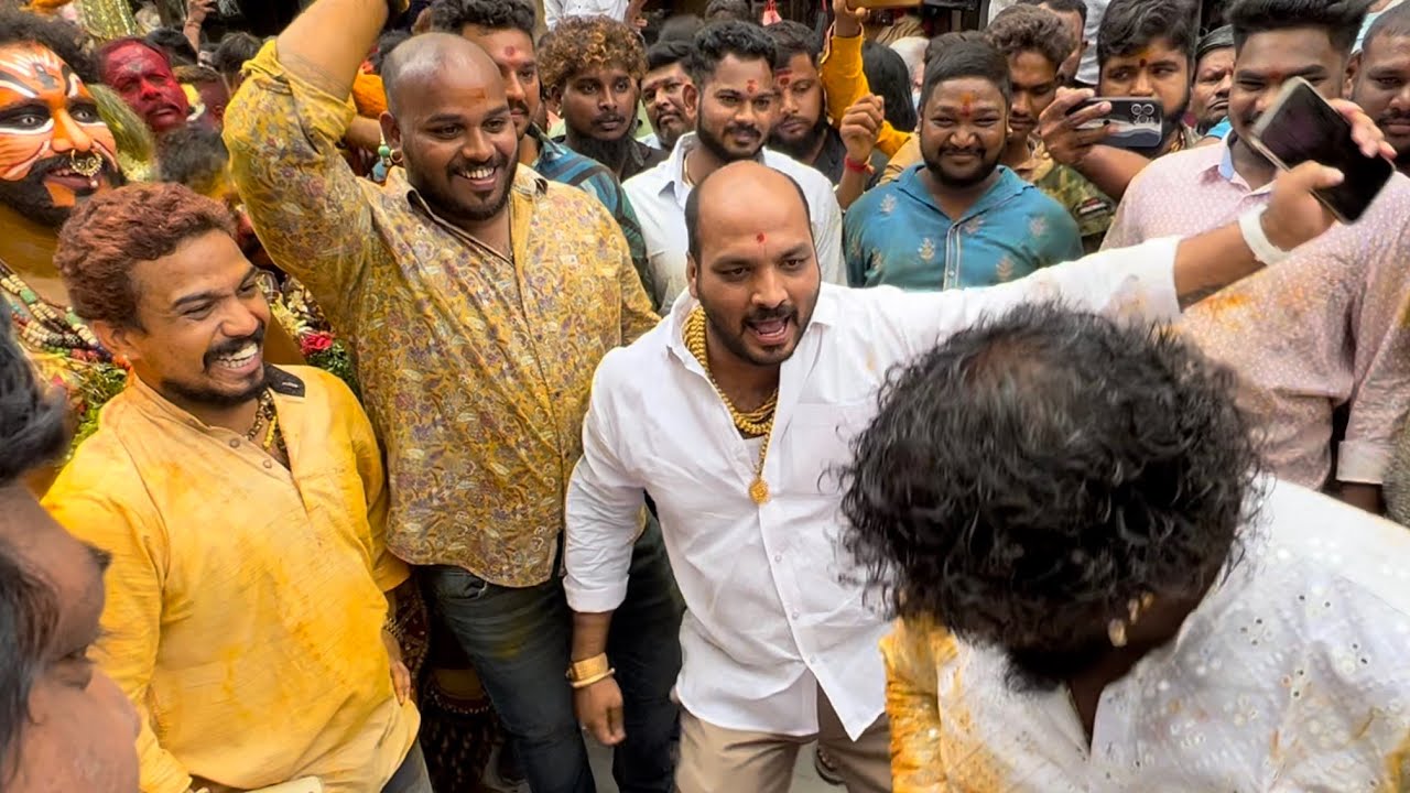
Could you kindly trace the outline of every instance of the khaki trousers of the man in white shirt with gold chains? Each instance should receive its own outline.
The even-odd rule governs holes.
[[[681,710],[680,793],[787,793],[798,749],[814,739],[828,752],[849,793],[890,793],[891,727],[881,715],[856,741],[818,690],[816,735],[726,730]]]

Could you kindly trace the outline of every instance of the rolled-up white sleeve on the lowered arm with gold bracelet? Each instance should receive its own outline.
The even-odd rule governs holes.
[[[612,399],[620,354],[609,353],[598,367],[582,422],[582,457],[568,483],[564,590],[568,605],[588,614],[615,611],[626,598],[632,546],[642,531],[644,483],[622,464],[613,443],[632,420],[618,415]]]

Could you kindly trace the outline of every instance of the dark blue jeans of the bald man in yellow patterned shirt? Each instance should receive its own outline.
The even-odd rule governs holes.
[[[515,744],[534,793],[594,793],[568,686],[572,611],[563,581],[510,588],[460,567],[423,569],[426,595],[460,641]],[[626,600],[612,615],[608,656],[622,687],[626,739],[612,776],[622,793],[670,793],[681,670],[681,614],[661,528],[653,519],[632,552]]]

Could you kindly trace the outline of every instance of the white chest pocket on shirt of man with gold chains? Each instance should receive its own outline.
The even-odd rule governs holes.
[[[785,439],[784,478],[799,495],[840,498],[843,473],[852,463],[852,442],[871,423],[876,401],[836,405],[799,404]]]

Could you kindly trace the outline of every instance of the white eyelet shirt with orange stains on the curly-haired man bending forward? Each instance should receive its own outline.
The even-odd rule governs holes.
[[[898,631],[894,706],[929,703],[898,711],[898,789],[1406,790],[1410,532],[1277,483],[1241,536],[1175,641],[1101,693],[1090,746],[1066,687],[1015,693],[998,652]]]

